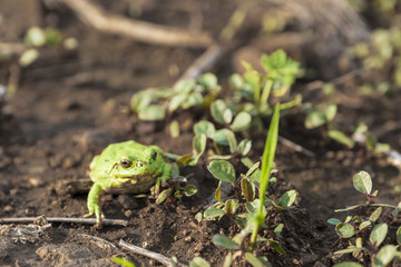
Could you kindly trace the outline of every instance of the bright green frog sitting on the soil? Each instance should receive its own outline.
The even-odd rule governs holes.
[[[90,162],[90,179],[94,185],[88,195],[89,212],[95,214],[97,227],[101,228],[99,198],[108,194],[140,194],[172,177],[172,165],[164,159],[164,152],[156,146],[144,146],[136,141],[109,145]]]

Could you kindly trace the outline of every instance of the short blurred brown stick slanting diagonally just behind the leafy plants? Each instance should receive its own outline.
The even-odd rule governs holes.
[[[203,55],[200,55],[199,58],[197,58],[189,66],[189,68],[184,72],[184,75],[179,77],[178,81],[196,79],[207,69],[209,69],[222,56],[223,50],[218,44],[211,46]]]

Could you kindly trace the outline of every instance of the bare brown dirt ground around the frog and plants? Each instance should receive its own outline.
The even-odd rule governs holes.
[[[28,3],[29,2],[29,3]],[[49,1],[51,2],[51,1]],[[100,1],[108,11],[123,13],[128,1]],[[190,18],[187,4],[149,1],[139,19],[185,28]],[[157,2],[157,4],[155,4]],[[28,7],[30,6],[30,7]],[[235,2],[202,1],[198,3],[203,29],[217,36],[235,10]],[[189,9],[189,11],[188,11]],[[87,212],[86,194],[63,194],[58,185],[63,180],[88,178],[92,157],[108,144],[136,140],[157,145],[164,151],[190,152],[192,127],[172,138],[164,123],[138,122],[124,110],[134,92],[160,86],[172,86],[203,49],[147,44],[131,39],[101,33],[84,24],[66,7],[49,9],[37,1],[1,1],[0,40],[21,41],[31,26],[56,26],[65,37],[75,37],[78,49],[72,52],[55,49],[21,72],[14,96],[2,102],[0,113],[0,217],[82,217]],[[236,46],[252,44],[257,30],[250,22],[238,34]],[[235,69],[235,49],[227,52],[212,69],[222,82]],[[0,83],[7,85],[8,62],[0,62]],[[301,81],[296,86],[302,91]],[[352,85],[351,83],[348,83]],[[359,121],[373,129],[385,123],[401,123],[401,91],[387,101],[353,95],[359,105],[340,103],[341,125]],[[182,121],[190,116],[183,112]],[[326,220],[343,219],[345,214],[333,210],[363,201],[352,187],[352,176],[359,170],[372,175],[380,202],[397,205],[400,198],[400,169],[380,157],[366,155],[362,148],[349,150],[335,144],[321,144],[319,132],[305,131],[302,116],[282,118],[280,132],[311,149],[315,157],[297,154],[278,144],[276,165],[278,185],[274,192],[295,188],[300,192],[295,209],[283,214],[285,229],[281,245],[286,255],[260,247],[273,266],[331,266],[342,260],[333,251],[346,247]],[[251,157],[263,152],[264,136],[254,137]],[[381,136],[394,150],[401,151],[400,128]],[[21,228],[0,225],[0,266],[116,266],[110,258],[120,255],[137,266],[159,266],[146,257],[118,247],[119,239],[188,263],[195,256],[221,266],[226,250],[212,241],[215,234],[229,234],[231,221],[207,221],[202,226],[205,241],[197,229],[189,227],[197,211],[203,210],[216,181],[198,166],[193,182],[195,197],[167,205],[155,205],[147,198],[105,196],[107,218],[127,219],[127,227],[105,226],[97,230],[79,224],[52,224],[49,228]],[[4,233],[33,233],[11,238]],[[109,244],[96,239],[102,238]],[[237,261],[237,266],[245,266]]]

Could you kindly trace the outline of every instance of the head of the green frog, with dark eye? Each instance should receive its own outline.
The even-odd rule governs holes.
[[[134,156],[121,156],[119,161],[114,165],[111,175],[120,178],[137,178],[151,175],[154,167],[160,156],[156,149],[144,151],[143,157],[138,159]]]

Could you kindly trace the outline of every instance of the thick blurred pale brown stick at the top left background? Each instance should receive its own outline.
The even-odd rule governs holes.
[[[165,46],[208,47],[212,43],[212,38],[205,32],[189,32],[177,28],[107,14],[100,7],[87,0],[61,1],[76,11],[85,23],[100,31]]]

